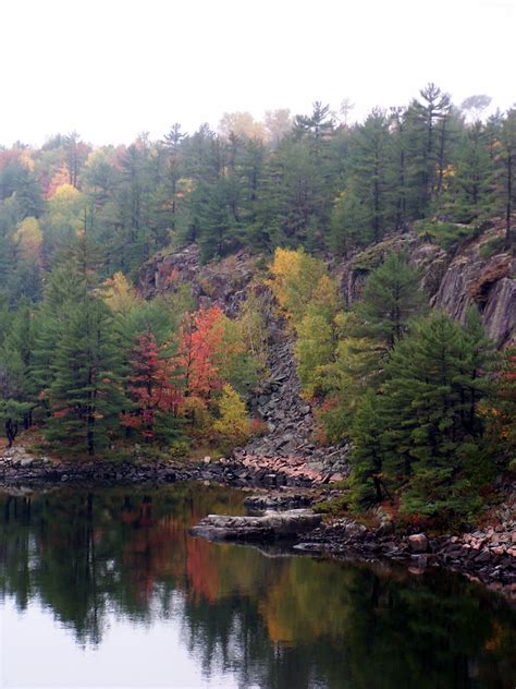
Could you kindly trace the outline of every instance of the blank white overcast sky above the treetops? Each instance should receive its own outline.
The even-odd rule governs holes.
[[[314,100],[353,119],[433,81],[516,100],[516,0],[0,0],[0,144],[188,132]]]

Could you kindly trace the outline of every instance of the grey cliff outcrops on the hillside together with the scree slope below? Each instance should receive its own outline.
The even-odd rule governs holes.
[[[468,307],[476,304],[488,335],[502,348],[515,337],[516,262],[508,253],[489,256],[484,250],[488,242],[492,244],[502,235],[503,227],[493,222],[458,250],[446,252],[407,232],[370,246],[348,261],[330,257],[329,265],[349,307],[360,298],[368,274],[380,265],[383,256],[404,251],[410,263],[420,268],[421,286],[432,306],[463,321]],[[150,298],[188,285],[200,305],[217,303],[234,316],[259,266],[259,257],[245,251],[201,265],[197,247],[191,245],[175,253],[157,254],[142,267],[138,287],[144,297]],[[302,471],[300,462],[303,471],[342,476],[346,473],[347,447],[316,446],[312,410],[300,396],[295,371],[292,334],[278,316],[270,293],[263,304],[270,336],[269,376],[261,382],[250,406],[254,415],[267,423],[267,433],[254,438],[238,456],[269,473]]]

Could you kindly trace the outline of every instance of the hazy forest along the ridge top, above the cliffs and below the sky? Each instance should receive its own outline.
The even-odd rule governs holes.
[[[449,246],[516,194],[516,110],[483,121],[486,96],[456,107],[434,84],[407,107],[339,122],[329,106],[256,122],[226,113],[219,131],[93,148],[76,132],[39,149],[0,149],[0,290],[35,300],[60,244],[78,229],[102,246],[105,277],[134,278],[160,249],[197,242],[202,258],[239,246],[345,255],[415,226]]]

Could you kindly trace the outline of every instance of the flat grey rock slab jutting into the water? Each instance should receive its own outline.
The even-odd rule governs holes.
[[[310,510],[266,511],[261,517],[208,515],[191,533],[210,541],[270,541],[307,533],[321,522]]]

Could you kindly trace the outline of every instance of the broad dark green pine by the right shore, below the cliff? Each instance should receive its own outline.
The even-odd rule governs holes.
[[[379,410],[383,468],[391,480],[408,481],[407,511],[464,515],[475,506],[466,464],[484,428],[478,406],[490,386],[482,376],[490,356],[474,313],[466,327],[432,313],[392,351]]]

